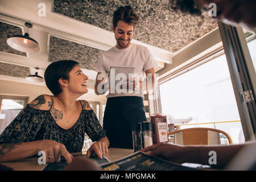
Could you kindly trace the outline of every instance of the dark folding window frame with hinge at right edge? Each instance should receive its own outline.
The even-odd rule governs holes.
[[[256,74],[241,27],[233,27],[219,22],[221,40],[228,61],[230,77],[243,128],[245,140],[255,140],[256,105],[255,100],[247,102],[245,92],[251,91],[255,98]]]

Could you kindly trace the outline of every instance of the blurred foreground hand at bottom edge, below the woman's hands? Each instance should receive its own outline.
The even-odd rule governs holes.
[[[92,159],[76,157],[64,169],[65,171],[101,171],[98,163]]]

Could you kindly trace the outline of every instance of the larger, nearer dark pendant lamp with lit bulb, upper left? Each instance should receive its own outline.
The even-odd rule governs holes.
[[[32,28],[31,23],[25,23],[25,26],[27,28]],[[38,52],[40,51],[40,47],[38,42],[36,42],[34,39],[30,38],[28,33],[25,33],[24,35],[14,35],[11,36],[9,39],[7,39],[7,44],[21,52]]]

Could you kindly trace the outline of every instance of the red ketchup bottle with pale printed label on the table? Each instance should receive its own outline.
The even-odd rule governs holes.
[[[150,115],[150,121],[153,125],[153,144],[168,142],[166,115],[152,114]]]

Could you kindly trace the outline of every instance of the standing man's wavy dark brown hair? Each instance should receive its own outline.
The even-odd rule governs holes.
[[[135,27],[139,22],[139,16],[130,6],[121,6],[115,10],[113,14],[113,27],[117,27],[117,23],[121,20],[122,22],[133,24]]]

